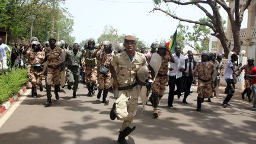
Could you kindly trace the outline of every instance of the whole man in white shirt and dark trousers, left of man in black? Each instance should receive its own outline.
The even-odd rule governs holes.
[[[168,63],[169,67],[169,95],[168,95],[168,107],[169,108],[174,108],[172,103],[174,100],[174,89],[175,85],[177,86],[177,94],[181,93],[183,90],[183,70],[184,70],[184,64],[185,64],[185,59],[184,56],[181,55],[181,48],[180,46],[175,47],[175,53],[172,54],[175,59],[175,63]],[[178,97],[179,98],[179,97]]]

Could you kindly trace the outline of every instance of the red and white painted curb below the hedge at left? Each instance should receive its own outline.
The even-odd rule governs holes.
[[[4,112],[6,110],[8,110],[11,105],[13,105],[15,103],[15,101],[18,101],[19,97],[21,95],[23,95],[25,93],[25,91],[27,91],[27,89],[30,89],[31,88],[31,85],[29,82],[27,82],[25,84],[24,87],[22,87],[20,89],[20,91],[17,92],[17,94],[15,94],[13,97],[9,98],[7,102],[3,103],[0,105],[0,117],[4,114]]]

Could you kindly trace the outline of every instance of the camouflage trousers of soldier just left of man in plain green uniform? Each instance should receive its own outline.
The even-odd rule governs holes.
[[[47,68],[46,85],[59,85],[60,68]]]

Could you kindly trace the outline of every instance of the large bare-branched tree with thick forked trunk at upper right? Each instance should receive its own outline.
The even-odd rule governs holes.
[[[194,23],[199,25],[205,25],[206,27],[209,27],[213,30],[213,36],[217,37],[220,40],[220,43],[222,44],[225,56],[228,57],[228,53],[230,52],[230,42],[228,38],[226,37],[224,28],[223,28],[223,20],[222,16],[220,15],[219,9],[223,8],[225,12],[228,14],[229,21],[231,21],[231,30],[233,34],[233,41],[234,41],[234,47],[233,52],[239,53],[240,47],[241,47],[241,41],[239,37],[239,31],[241,29],[241,23],[243,20],[243,15],[245,9],[249,7],[252,0],[243,0],[240,3],[239,0],[235,1],[235,8],[234,13],[232,12],[233,9],[231,9],[224,0],[193,0],[193,1],[184,1],[181,2],[180,0],[163,0],[165,4],[176,4],[176,5],[194,5],[197,8],[199,8],[201,11],[206,14],[206,16],[209,18],[209,21],[200,22],[200,21],[194,21],[194,20],[188,20],[181,17],[178,17],[177,15],[173,14],[171,10],[168,9],[162,9],[161,8],[161,0],[153,0],[153,2],[156,4],[155,8],[153,8],[153,11],[161,11],[165,14],[169,15],[172,18],[175,18],[180,21],[185,21],[187,23]],[[206,9],[206,6],[208,5],[212,12]]]

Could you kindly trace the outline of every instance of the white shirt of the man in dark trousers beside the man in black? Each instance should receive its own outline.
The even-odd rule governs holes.
[[[169,62],[168,63],[168,68],[173,68],[172,71],[168,72],[168,75],[170,76],[176,76],[177,78],[181,78],[181,76],[183,75],[183,73],[181,71],[178,71],[178,69],[180,68],[184,68],[185,66],[185,59],[184,56],[180,54],[180,58],[176,55],[176,53],[172,54],[172,56],[174,56],[175,59],[175,63]]]

